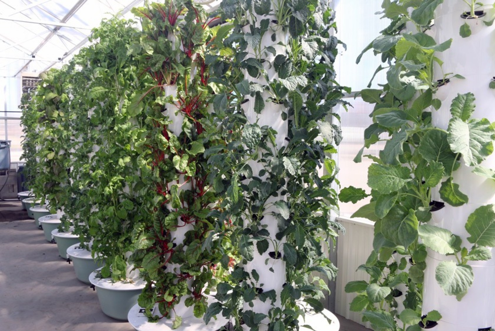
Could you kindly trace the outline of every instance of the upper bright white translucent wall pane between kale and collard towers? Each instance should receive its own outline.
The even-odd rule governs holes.
[[[366,88],[381,64],[380,57],[373,51],[366,52],[356,64],[357,56],[390,24],[389,19],[379,19],[380,15],[374,14],[383,10],[381,4],[382,0],[335,0],[337,37],[347,45],[347,51],[342,49],[337,56],[337,76],[339,83],[351,87],[352,91]],[[382,70],[372,87],[385,81],[385,70]]]

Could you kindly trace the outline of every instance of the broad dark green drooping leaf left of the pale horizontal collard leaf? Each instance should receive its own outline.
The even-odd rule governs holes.
[[[418,237],[418,225],[412,209],[407,212],[396,205],[382,220],[382,233],[387,240],[407,249]]]

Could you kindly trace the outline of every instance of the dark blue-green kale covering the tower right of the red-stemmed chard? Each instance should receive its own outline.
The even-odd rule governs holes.
[[[218,218],[233,224],[232,232],[217,235],[230,236],[241,260],[230,279],[218,284],[215,298],[219,302],[208,307],[204,320],[208,323],[222,313],[233,318],[235,330],[242,330],[243,322],[250,330],[258,330],[266,321],[268,330],[292,330],[299,326],[297,318],[304,315],[306,307],[317,312],[323,309],[319,299],[328,290],[324,278],[333,278],[337,272],[323,251],[332,246],[336,229],[341,228],[330,217],[337,203],[336,192],[331,189],[337,169],[329,157],[336,152],[334,144],[340,143],[341,136],[339,128],[325,120],[332,116],[332,107],[342,102],[343,88],[331,85],[338,41],[330,33],[330,8],[300,3],[308,15],[304,31],[291,45],[311,43],[312,48],[297,55],[287,48],[275,54],[258,52],[260,58],[253,58],[256,55],[250,54],[249,40],[254,30],[243,32],[245,22],[228,10],[229,5],[224,1],[222,7],[225,18],[233,19],[229,21],[233,27],[223,45],[232,51],[216,56],[211,64],[213,72],[220,74],[215,81],[224,90],[213,97],[224,143],[207,149],[205,156],[213,169],[209,182],[224,196]],[[286,23],[270,22],[270,7],[270,1],[257,3],[257,16],[252,12],[244,16],[251,26],[268,30],[278,25],[281,31],[288,31]],[[269,44],[270,39],[259,47],[269,49]],[[278,75],[273,80],[267,76],[272,68]],[[246,106],[244,100],[250,104]],[[280,143],[282,131],[249,119],[252,113],[271,116],[271,101],[283,108],[280,116],[288,128],[284,144]],[[321,176],[319,167],[325,167],[328,174]],[[268,257],[269,251],[273,257]],[[263,272],[248,267],[260,258],[266,259]],[[286,284],[267,287],[263,280],[266,270],[273,273],[278,264],[285,270]],[[314,272],[323,278],[312,275]],[[271,309],[260,312],[259,302],[271,305]]]

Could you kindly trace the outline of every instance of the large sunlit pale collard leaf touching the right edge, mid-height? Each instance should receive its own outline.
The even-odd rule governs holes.
[[[461,153],[468,166],[479,165],[492,154],[492,138],[495,130],[486,118],[471,119],[464,122],[452,118],[448,123],[447,141],[454,153]]]

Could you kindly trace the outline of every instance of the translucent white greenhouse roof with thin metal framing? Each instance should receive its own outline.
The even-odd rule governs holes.
[[[206,9],[218,0],[200,0]],[[91,29],[144,0],[0,0],[0,77],[36,76],[66,63],[88,41]]]

